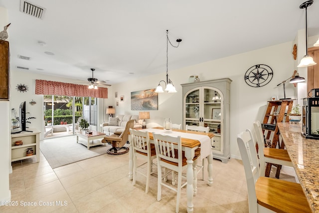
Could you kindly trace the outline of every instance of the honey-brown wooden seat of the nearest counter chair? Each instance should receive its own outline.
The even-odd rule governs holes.
[[[255,184],[257,203],[277,213],[310,213],[300,184],[259,177]]]

